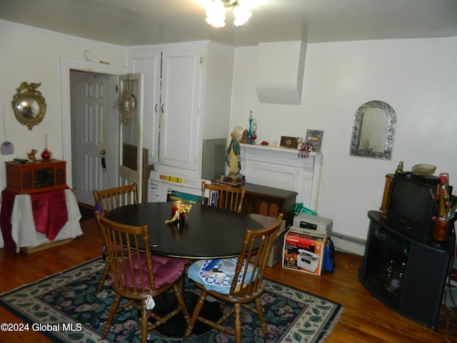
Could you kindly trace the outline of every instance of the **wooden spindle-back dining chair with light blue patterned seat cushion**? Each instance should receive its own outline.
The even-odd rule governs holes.
[[[187,326],[186,333],[184,334],[184,340],[189,339],[196,321],[199,320],[199,322],[203,322],[221,332],[234,335],[236,343],[241,343],[241,307],[248,309],[254,314],[258,314],[261,330],[264,337],[266,337],[266,322],[265,317],[263,316],[260,299],[263,293],[262,281],[268,263],[268,257],[271,254],[282,219],[283,214],[280,213],[278,214],[276,222],[270,227],[257,231],[246,229],[241,244],[241,252],[238,255],[235,273],[227,286],[224,284],[215,285],[206,283],[204,279],[200,277],[201,269],[203,267],[201,262],[196,262],[189,267],[187,276],[192,279],[196,287],[200,289],[200,297]],[[256,247],[256,243],[260,244],[258,249],[253,248]],[[200,315],[202,305],[208,296],[219,299],[222,307],[224,307],[226,303],[233,305],[230,311],[224,314],[217,322]],[[251,302],[254,302],[255,308],[248,305]],[[234,316],[234,330],[222,325],[222,323],[232,315]]]

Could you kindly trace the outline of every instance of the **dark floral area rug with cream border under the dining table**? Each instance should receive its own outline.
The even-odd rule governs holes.
[[[0,294],[0,305],[26,324],[21,329],[41,332],[53,342],[140,342],[136,312],[129,308],[114,319],[101,341],[114,292],[109,282],[96,294],[104,261],[94,259],[33,284]],[[323,342],[338,322],[343,305],[265,279],[262,297],[268,337],[263,337],[256,315],[243,309],[243,342]],[[193,284],[186,282],[186,291]],[[229,305],[227,305],[229,306]],[[232,319],[233,320],[233,319]],[[225,323],[225,324],[232,324]],[[16,330],[17,331],[17,330]],[[156,331],[149,342],[183,342]],[[235,342],[234,337],[211,329],[187,342]]]

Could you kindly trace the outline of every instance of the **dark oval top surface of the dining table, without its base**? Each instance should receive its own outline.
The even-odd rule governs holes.
[[[121,224],[147,224],[153,254],[192,259],[237,257],[246,229],[263,229],[260,222],[244,214],[201,204],[192,204],[184,222],[165,224],[172,217],[172,204],[132,204],[118,207],[105,217]]]

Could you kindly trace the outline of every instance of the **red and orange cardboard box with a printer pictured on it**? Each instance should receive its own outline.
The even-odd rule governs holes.
[[[321,275],[327,233],[290,227],[284,236],[283,268]]]

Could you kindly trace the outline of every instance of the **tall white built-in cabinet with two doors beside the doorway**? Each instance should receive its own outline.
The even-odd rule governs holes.
[[[144,147],[149,163],[201,177],[202,142],[229,136],[231,46],[211,41],[128,48],[144,74]]]

